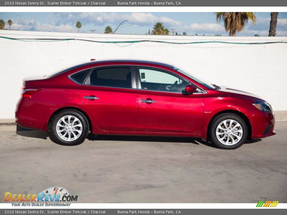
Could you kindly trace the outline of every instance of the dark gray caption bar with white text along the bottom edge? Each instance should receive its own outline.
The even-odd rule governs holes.
[[[255,205],[254,205],[255,207]],[[199,215],[199,214],[220,214],[220,215],[281,215],[286,214],[287,209],[0,209],[0,214],[105,214],[105,215],[146,215],[146,214],[167,214],[167,215]],[[29,211],[29,212],[28,212]]]

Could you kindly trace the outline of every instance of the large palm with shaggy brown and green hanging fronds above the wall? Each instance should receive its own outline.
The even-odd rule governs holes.
[[[243,30],[248,19],[251,19],[253,24],[256,23],[256,16],[252,12],[217,12],[216,21],[224,20],[224,27],[229,31],[229,36],[235,36],[236,32]]]

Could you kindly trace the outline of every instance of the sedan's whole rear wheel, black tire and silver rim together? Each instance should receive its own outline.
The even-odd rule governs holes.
[[[75,110],[63,110],[51,121],[50,139],[61,145],[78,145],[85,141],[88,135],[86,117]]]

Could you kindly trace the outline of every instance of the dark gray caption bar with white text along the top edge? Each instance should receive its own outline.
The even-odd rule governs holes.
[[[1,7],[223,7],[223,6],[248,6],[248,7],[285,7],[287,6],[287,1],[283,0],[241,0],[241,1],[230,1],[230,0],[106,0],[106,1],[89,1],[89,0],[18,0],[18,1],[0,1]]]

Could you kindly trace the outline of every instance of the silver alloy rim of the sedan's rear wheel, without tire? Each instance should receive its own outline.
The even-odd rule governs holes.
[[[59,138],[71,142],[78,139],[83,131],[83,125],[76,116],[63,116],[56,125]]]

